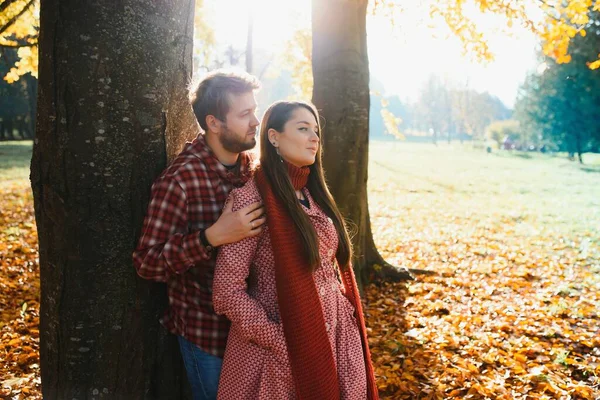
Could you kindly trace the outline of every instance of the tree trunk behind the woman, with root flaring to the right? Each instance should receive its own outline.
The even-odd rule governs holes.
[[[357,279],[363,285],[376,277],[409,278],[383,260],[369,222],[367,1],[313,0],[312,10],[313,103],[325,119],[323,164],[340,211],[357,230]]]

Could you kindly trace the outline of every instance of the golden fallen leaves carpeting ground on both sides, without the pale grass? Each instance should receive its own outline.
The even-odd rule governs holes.
[[[405,195],[397,185],[378,190],[372,222],[383,255],[437,273],[366,289],[383,399],[600,399],[597,237],[542,229],[527,212],[428,208],[420,188],[411,209],[390,201]],[[0,398],[39,399],[37,234],[26,182],[0,186],[0,310]]]

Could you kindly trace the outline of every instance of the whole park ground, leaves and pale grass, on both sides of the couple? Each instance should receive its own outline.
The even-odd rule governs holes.
[[[39,399],[37,235],[15,151],[0,162],[0,398]],[[370,160],[383,254],[435,273],[367,288],[382,398],[600,399],[600,162],[387,143]]]

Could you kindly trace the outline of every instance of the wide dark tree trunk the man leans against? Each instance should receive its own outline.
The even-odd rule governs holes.
[[[132,251],[154,178],[196,134],[193,0],[41,3],[31,185],[44,399],[177,399],[163,285]]]

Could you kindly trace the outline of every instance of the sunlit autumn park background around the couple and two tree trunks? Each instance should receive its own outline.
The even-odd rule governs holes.
[[[346,32],[366,34],[368,48],[366,124],[364,113],[353,112],[368,127],[368,146],[351,157],[365,160],[369,177],[370,227],[359,226],[357,235],[372,231],[385,259],[359,271],[382,398],[599,398],[598,2],[197,1],[188,73],[197,80],[220,67],[251,71],[263,83],[261,110],[277,99],[311,100],[311,19],[338,3],[365,8],[364,31],[357,24]],[[66,6],[46,4],[79,21]],[[10,399],[40,398],[44,381],[29,180],[35,116],[43,112],[36,107],[39,15],[36,1],[0,3],[0,394]],[[114,46],[128,51],[126,42]],[[83,69],[98,59],[80,57]],[[106,100],[92,101],[103,108]],[[325,135],[336,128],[327,111]],[[95,128],[92,140],[105,130]],[[330,153],[329,164],[342,163],[343,153]],[[390,265],[416,279],[377,276]],[[89,289],[71,276],[75,293]],[[94,320],[101,300],[75,296],[75,303],[114,334],[115,325]],[[98,370],[103,349],[94,335],[61,344],[69,340],[66,326],[81,328],[60,307],[47,312],[63,322],[54,329],[66,331],[47,334],[59,360],[46,365],[70,361],[87,371],[49,373],[44,387],[65,380],[62,394],[127,393],[122,384],[96,383],[127,378],[119,368],[111,376]],[[142,382],[152,376],[135,374]],[[156,397],[160,389],[152,390],[134,397]]]

